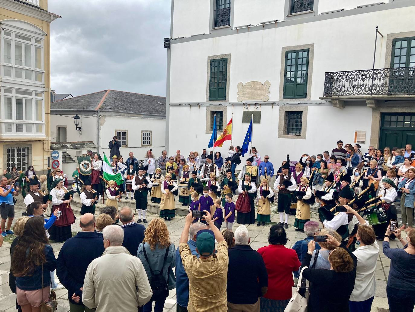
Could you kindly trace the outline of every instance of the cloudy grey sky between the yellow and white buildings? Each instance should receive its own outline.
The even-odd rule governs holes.
[[[51,89],[166,96],[171,0],[49,0]]]

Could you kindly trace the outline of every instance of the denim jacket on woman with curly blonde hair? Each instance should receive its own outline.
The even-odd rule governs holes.
[[[144,269],[146,270],[147,277],[149,278],[149,282],[151,282],[150,267],[149,267],[149,263],[144,257],[143,244],[144,243],[141,243],[138,246],[137,257],[141,260],[142,264],[144,265]],[[157,244],[156,249],[154,250],[151,250],[150,245],[148,243],[145,243],[144,246],[146,248],[147,258],[149,258],[151,270],[153,270],[153,273],[157,274],[158,272],[161,271],[161,266],[163,265],[164,254],[166,253],[166,248],[160,248],[159,244]],[[164,267],[163,267],[163,275],[166,280],[167,280],[167,274],[168,274],[168,290],[172,290],[176,288],[176,277],[174,276],[174,273],[172,270],[173,267],[176,266],[176,258],[174,257],[175,252],[176,252],[176,248],[174,247],[174,244],[171,243],[168,249],[167,259],[166,259],[166,262],[164,262]]]

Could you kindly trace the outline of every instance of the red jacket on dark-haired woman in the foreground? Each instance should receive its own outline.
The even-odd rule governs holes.
[[[291,299],[294,286],[293,272],[298,271],[301,262],[293,249],[283,245],[268,245],[258,249],[268,273],[268,291],[265,298],[272,300]]]

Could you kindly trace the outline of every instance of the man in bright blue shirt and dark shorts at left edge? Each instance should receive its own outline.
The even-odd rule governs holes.
[[[3,237],[14,234],[10,227],[12,226],[13,218],[15,217],[15,203],[14,196],[19,195],[19,187],[16,183],[7,185],[7,178],[5,176],[0,178],[0,215],[1,215],[1,235]],[[6,226],[7,220],[7,229]]]

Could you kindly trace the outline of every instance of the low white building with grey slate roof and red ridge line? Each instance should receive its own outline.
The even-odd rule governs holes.
[[[165,148],[165,133],[165,97],[103,90],[51,103],[51,149],[60,151],[66,174],[78,166],[76,156],[88,149],[110,157],[108,144],[115,135],[124,161],[130,151],[142,160],[149,149],[158,158]]]

